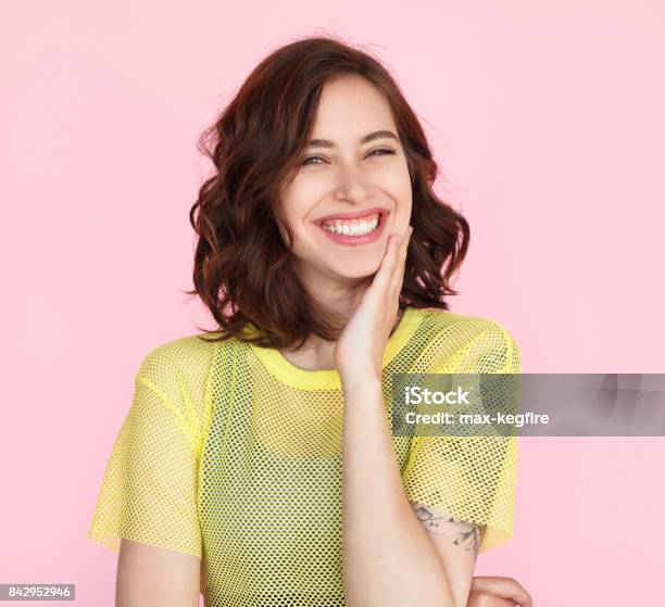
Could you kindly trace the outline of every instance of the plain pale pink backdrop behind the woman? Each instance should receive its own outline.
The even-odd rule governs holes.
[[[473,228],[453,312],[502,323],[526,372],[665,372],[662,2],[174,4],[4,11],[0,583],[113,605],[85,534],[133,377],[208,318],[181,293],[196,138],[298,36],[365,45],[422,117]],[[477,574],[538,607],[660,600],[663,438],[528,438],[519,461],[515,536]]]

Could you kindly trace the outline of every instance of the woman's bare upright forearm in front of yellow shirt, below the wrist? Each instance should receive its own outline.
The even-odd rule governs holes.
[[[343,578],[349,607],[456,607],[409,504],[379,378],[342,376]]]

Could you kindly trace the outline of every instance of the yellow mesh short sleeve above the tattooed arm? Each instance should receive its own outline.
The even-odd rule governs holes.
[[[492,320],[467,318],[457,331],[459,347],[429,372],[520,372],[514,338]],[[503,435],[415,437],[402,473],[410,501],[481,528],[479,552],[512,538],[516,480],[517,438]]]

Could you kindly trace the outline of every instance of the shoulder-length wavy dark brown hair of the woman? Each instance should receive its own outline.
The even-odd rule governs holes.
[[[198,235],[193,284],[219,325],[210,341],[237,337],[260,346],[300,347],[310,333],[337,340],[342,319],[306,292],[284,242],[292,233],[279,192],[298,167],[324,84],[357,75],[387,99],[404,149],[413,226],[400,308],[448,309],[449,280],[469,242],[466,219],[437,198],[438,167],[421,124],[378,60],[337,37],[308,37],[266,56],[249,75],[198,149],[214,164],[189,212]],[[201,338],[203,339],[203,338]],[[205,338],[209,339],[209,338]]]

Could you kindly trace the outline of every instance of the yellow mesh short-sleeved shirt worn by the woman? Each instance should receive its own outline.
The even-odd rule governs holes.
[[[201,333],[203,334],[203,333]],[[384,355],[397,372],[519,372],[498,323],[407,307]],[[206,607],[343,607],[343,393],[336,370],[198,334],[150,352],[113,445],[88,539],[201,558]],[[393,437],[414,502],[513,533],[516,437]]]

